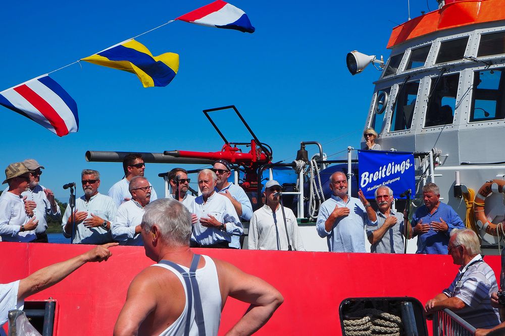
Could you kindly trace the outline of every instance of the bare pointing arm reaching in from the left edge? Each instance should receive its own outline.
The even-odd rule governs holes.
[[[118,245],[118,243],[96,246],[92,250],[81,255],[38,270],[19,282],[18,300],[24,300],[32,294],[59,283],[86,262],[100,262],[109,259],[112,255],[109,248],[116,245]]]

